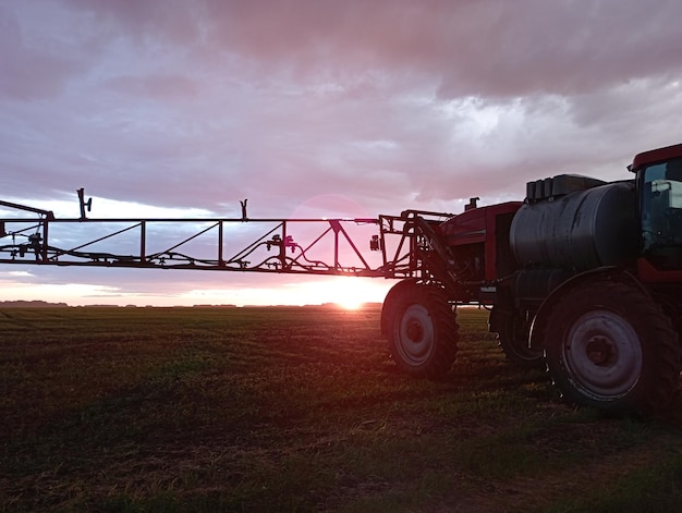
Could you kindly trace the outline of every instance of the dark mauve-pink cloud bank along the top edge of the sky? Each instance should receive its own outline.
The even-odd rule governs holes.
[[[267,83],[374,72],[437,81],[446,97],[574,94],[679,73],[678,2],[305,0],[71,2],[148,50],[236,62]],[[182,51],[182,50],[181,50]]]

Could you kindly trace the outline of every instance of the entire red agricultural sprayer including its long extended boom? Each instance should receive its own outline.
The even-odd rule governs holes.
[[[448,372],[456,308],[482,305],[512,363],[546,366],[572,402],[647,415],[679,388],[682,145],[640,154],[629,169],[630,179],[609,183],[537,180],[523,201],[472,199],[459,215],[370,219],[249,219],[245,201],[233,219],[88,219],[78,190],[74,219],[0,201],[20,212],[0,219],[0,264],[395,279],[380,322],[403,371]],[[263,231],[247,240],[245,225]],[[368,248],[352,227],[373,232]],[[74,243],[58,229],[88,236]],[[179,237],[171,245],[169,232]],[[380,255],[376,265],[366,251]]]

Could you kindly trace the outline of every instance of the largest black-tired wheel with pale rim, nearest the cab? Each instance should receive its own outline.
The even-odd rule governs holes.
[[[679,387],[678,334],[659,305],[628,283],[569,291],[549,313],[545,350],[555,383],[576,404],[647,416]]]

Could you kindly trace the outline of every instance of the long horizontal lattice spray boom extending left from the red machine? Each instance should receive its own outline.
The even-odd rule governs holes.
[[[430,278],[425,260],[434,254],[433,241],[424,225],[437,225],[450,213],[406,210],[400,216],[336,219],[87,219],[82,190],[80,219],[57,219],[49,210],[0,200],[0,206],[33,213],[32,217],[0,219],[0,264],[38,266],[87,266],[118,268],[196,269],[241,272],[275,272],[290,274],[331,274],[369,278]],[[89,207],[89,205],[88,205]],[[351,227],[373,225],[369,245],[361,245]],[[97,232],[65,245],[53,243],[53,233]],[[255,232],[245,244],[235,247],[230,236],[238,227]],[[256,229],[257,227],[257,229]],[[71,230],[70,230],[71,229]],[[160,233],[165,234],[162,237]],[[162,251],[153,246],[168,244]],[[136,248],[117,246],[124,236],[136,234]],[[206,237],[211,236],[206,255]],[[202,249],[192,248],[192,241],[203,237]],[[69,239],[69,237],[66,237]],[[113,245],[113,249],[95,246]],[[361,249],[365,247],[367,249]],[[380,262],[370,265],[365,253],[380,252]],[[321,256],[320,256],[321,254]],[[374,260],[377,260],[374,258]]]

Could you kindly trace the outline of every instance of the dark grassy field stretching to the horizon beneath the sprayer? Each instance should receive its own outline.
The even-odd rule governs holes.
[[[0,511],[680,511],[678,400],[562,402],[486,313],[397,372],[379,308],[0,309]]]

